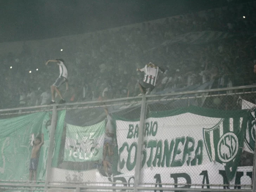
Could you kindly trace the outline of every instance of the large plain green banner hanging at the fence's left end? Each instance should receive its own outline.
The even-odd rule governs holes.
[[[55,135],[53,165],[57,165],[60,139],[63,130],[65,111],[58,112]],[[36,137],[44,134],[44,144],[40,149],[37,167],[37,180],[45,180],[47,152],[51,128],[51,113],[39,112],[21,117],[0,120],[0,179],[28,180],[31,150]]]

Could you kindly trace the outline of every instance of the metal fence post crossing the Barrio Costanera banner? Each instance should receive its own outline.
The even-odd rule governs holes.
[[[137,157],[135,165],[135,175],[134,175],[134,192],[137,192],[137,186],[140,183],[140,170],[141,170],[141,151],[143,145],[143,130],[145,125],[146,118],[146,96],[143,95],[141,101],[141,111],[140,111],[140,126],[139,126],[139,137],[138,137],[138,148],[137,148]]]

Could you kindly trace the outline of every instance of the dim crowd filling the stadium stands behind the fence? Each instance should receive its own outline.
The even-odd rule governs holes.
[[[70,88],[64,98],[76,102],[136,96],[137,79],[142,78],[136,68],[148,62],[166,69],[155,91],[211,80],[212,88],[250,85],[256,64],[255,6],[252,1],[97,31],[79,42],[63,40],[62,47],[72,47],[58,56],[68,68]],[[0,108],[49,104],[58,68],[44,64],[58,54],[47,46],[34,55],[24,42],[21,54],[0,55]]]

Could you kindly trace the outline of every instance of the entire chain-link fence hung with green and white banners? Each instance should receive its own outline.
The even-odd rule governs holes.
[[[0,189],[250,191],[255,93],[221,89],[0,110]]]

